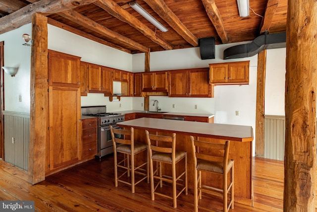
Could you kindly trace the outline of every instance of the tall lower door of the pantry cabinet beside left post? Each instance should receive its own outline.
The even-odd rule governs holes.
[[[80,88],[49,89],[49,169],[76,163],[82,155]]]

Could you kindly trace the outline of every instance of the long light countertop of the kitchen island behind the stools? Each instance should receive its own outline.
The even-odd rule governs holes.
[[[229,141],[253,141],[250,126],[140,118],[117,123],[119,127],[159,130]]]

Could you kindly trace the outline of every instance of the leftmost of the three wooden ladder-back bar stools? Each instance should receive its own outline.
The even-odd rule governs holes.
[[[113,142],[113,154],[114,154],[114,184],[118,187],[118,182],[125,183],[131,186],[131,192],[134,193],[135,186],[142,180],[147,178],[149,183],[149,152],[148,145],[144,143],[134,142],[134,129],[123,130],[119,128],[112,128],[110,126],[110,132]],[[129,139],[128,139],[129,138]],[[135,167],[135,155],[147,151],[146,162]],[[117,161],[117,153],[123,153],[124,158],[121,161]],[[131,165],[129,156],[131,157]],[[147,166],[145,168],[145,166]],[[124,169],[125,171],[118,176],[118,167]],[[131,172],[131,182],[129,180]],[[128,179],[123,180],[124,175],[127,174]],[[142,178],[135,182],[135,174],[139,174]]]

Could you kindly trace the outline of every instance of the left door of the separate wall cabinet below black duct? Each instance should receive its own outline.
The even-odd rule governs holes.
[[[228,65],[227,64],[210,64],[209,65],[209,83],[228,82]]]

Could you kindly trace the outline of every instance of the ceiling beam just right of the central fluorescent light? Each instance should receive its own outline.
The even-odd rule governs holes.
[[[192,46],[198,46],[198,39],[195,37],[178,19],[172,10],[163,0],[144,0],[151,8],[158,13],[169,26],[171,26],[180,36],[182,36]]]

